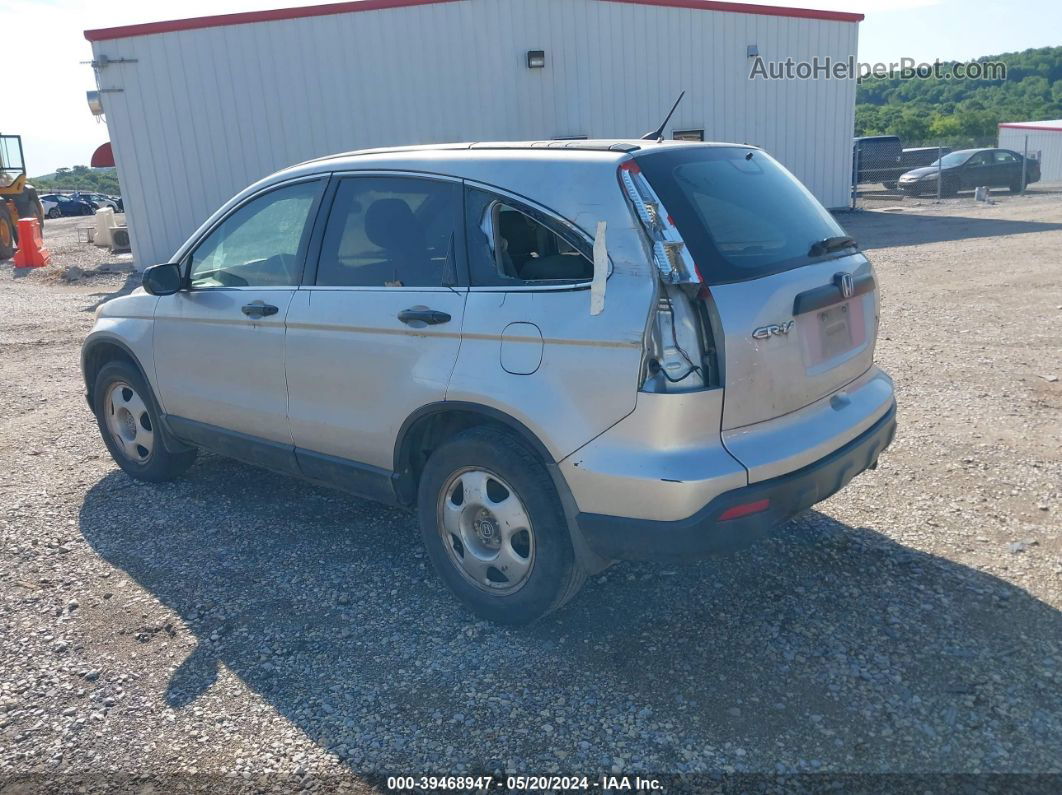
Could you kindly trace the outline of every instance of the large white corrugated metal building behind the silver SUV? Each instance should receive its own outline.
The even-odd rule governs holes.
[[[165,261],[285,166],[381,145],[667,135],[755,143],[846,207],[858,14],[710,0],[362,0],[86,31],[133,249]],[[538,64],[544,65],[539,66]]]

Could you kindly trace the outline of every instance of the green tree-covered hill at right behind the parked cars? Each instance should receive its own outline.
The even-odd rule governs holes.
[[[987,55],[1007,80],[868,77],[856,92],[856,135],[898,135],[905,145],[987,144],[1000,121],[1062,118],[1062,47]]]

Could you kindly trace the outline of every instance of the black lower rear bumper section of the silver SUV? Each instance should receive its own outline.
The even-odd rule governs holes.
[[[895,433],[893,403],[870,429],[828,455],[794,472],[725,491],[686,519],[654,521],[581,513],[576,521],[590,549],[609,559],[683,560],[740,549],[875,466]],[[766,511],[720,521],[729,508],[761,500],[769,501]]]

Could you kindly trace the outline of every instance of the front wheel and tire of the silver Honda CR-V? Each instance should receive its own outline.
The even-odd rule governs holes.
[[[171,481],[195,461],[194,449],[167,449],[155,396],[129,362],[109,362],[100,369],[92,403],[110,457],[131,478]]]

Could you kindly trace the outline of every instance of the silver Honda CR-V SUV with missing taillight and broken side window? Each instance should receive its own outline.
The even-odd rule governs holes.
[[[237,195],[85,341],[118,465],[199,448],[415,506],[523,623],[618,559],[763,537],[895,429],[870,262],[765,152],[360,152]]]

